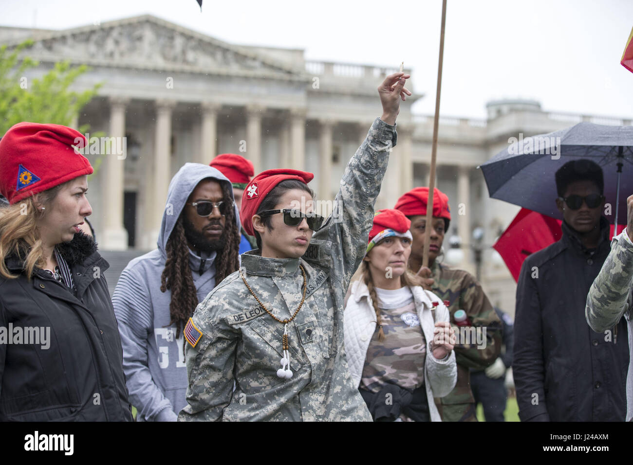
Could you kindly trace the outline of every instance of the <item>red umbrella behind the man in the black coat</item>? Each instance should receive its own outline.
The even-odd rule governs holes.
[[[515,281],[521,271],[525,257],[544,249],[561,238],[561,221],[550,218],[536,211],[522,208],[512,220],[510,226],[501,234],[492,248],[499,252]],[[626,225],[618,225],[618,233]],[[610,225],[609,237],[613,235],[613,225]]]

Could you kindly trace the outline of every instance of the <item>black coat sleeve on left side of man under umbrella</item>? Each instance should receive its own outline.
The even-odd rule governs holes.
[[[521,421],[549,421],[545,397],[545,365],[539,291],[530,276],[529,257],[517,283],[512,374]]]

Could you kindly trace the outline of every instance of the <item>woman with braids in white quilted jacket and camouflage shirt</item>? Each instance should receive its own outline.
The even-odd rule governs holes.
[[[433,399],[457,381],[448,309],[406,269],[410,227],[398,210],[374,216],[344,313],[349,372],[374,421],[442,421]]]

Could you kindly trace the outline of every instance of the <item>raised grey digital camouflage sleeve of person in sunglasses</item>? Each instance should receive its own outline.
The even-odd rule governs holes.
[[[313,239],[331,241],[330,276],[342,283],[342,292],[365,255],[373,224],[373,207],[396,139],[395,126],[380,118],[373,121],[363,144],[345,168],[332,214],[325,226],[313,235]]]

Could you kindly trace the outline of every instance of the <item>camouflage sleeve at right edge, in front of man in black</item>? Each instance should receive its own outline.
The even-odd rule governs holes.
[[[587,294],[585,316],[598,333],[617,325],[623,314],[627,319],[631,316],[633,244],[626,233],[624,230],[611,242],[611,252]]]

